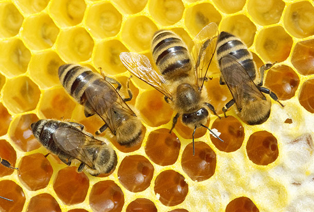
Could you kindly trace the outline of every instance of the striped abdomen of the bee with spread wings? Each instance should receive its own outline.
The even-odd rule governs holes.
[[[187,77],[192,69],[188,47],[177,34],[160,30],[152,41],[153,59],[161,74],[167,79]]]

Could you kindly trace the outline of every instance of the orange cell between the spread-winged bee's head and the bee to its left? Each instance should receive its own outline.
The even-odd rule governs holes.
[[[141,118],[151,127],[158,127],[168,123],[173,114],[170,105],[164,101],[163,95],[157,90],[142,93],[136,103]]]

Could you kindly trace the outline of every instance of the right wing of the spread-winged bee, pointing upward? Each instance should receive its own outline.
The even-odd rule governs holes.
[[[193,48],[194,72],[197,86],[202,88],[211,61],[213,60],[219,31],[217,24],[212,22],[197,34]]]

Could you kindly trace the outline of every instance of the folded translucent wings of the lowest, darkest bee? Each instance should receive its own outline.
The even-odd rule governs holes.
[[[61,150],[89,167],[93,167],[94,164],[86,147],[95,146],[97,148],[99,145],[104,145],[101,140],[90,137],[78,129],[68,127],[58,128],[52,138]]]

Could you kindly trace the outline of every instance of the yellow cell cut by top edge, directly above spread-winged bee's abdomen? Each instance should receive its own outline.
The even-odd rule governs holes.
[[[149,9],[152,17],[161,25],[173,25],[181,20],[184,5],[181,0],[153,0]]]

